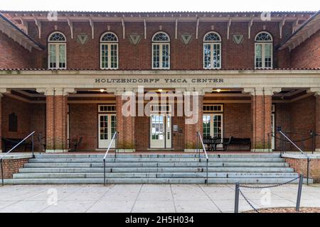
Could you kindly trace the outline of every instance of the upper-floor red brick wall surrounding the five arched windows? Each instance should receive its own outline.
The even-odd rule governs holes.
[[[70,37],[70,28],[65,22],[43,22],[42,37],[38,40],[37,28],[33,23],[29,25],[29,34],[41,44],[47,45],[48,35],[57,30],[63,32],[68,40],[67,43],[67,67],[68,68],[100,68],[100,35],[107,31],[117,34],[119,38],[119,69],[120,70],[150,70],[151,69],[151,38],[154,33],[162,31],[169,34],[171,38],[171,70],[202,70],[203,69],[203,36],[209,31],[216,31],[222,37],[222,67],[232,68],[254,68],[255,55],[255,35],[263,31],[269,31],[274,38],[274,47],[278,45],[291,31],[291,23],[285,23],[283,36],[279,38],[279,24],[274,22],[253,23],[251,28],[251,38],[247,36],[247,23],[234,22],[230,27],[230,38],[227,39],[227,23],[200,23],[198,39],[196,39],[196,22],[178,23],[178,38],[175,38],[175,23],[146,23],[146,39],[144,39],[143,23],[126,23],[126,37],[122,38],[121,23],[95,23],[95,38],[91,38],[91,28],[87,22],[73,23],[74,38]],[[211,29],[214,26],[214,29]],[[85,33],[88,40],[85,45],[76,41],[77,35]],[[131,33],[142,34],[139,45],[132,45],[128,35]],[[191,43],[184,45],[181,41],[181,34],[190,33]],[[233,42],[233,34],[244,35],[244,40],[240,45]],[[47,50],[35,52],[36,67],[47,67]],[[288,53],[284,55],[274,50],[274,67],[287,67],[289,65]],[[181,57],[185,56],[185,57]]]

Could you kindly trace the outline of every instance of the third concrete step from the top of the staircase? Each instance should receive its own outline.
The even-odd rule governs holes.
[[[102,163],[26,163],[25,167],[103,167]],[[209,167],[289,167],[286,162],[209,162]],[[206,167],[206,162],[107,162],[106,167]]]

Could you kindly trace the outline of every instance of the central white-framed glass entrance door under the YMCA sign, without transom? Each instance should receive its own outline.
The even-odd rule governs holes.
[[[171,116],[151,114],[150,148],[171,148]]]

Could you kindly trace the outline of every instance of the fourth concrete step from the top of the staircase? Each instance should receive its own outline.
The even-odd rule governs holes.
[[[203,172],[206,167],[106,167],[106,172]],[[103,167],[26,167],[19,172],[102,172]],[[294,172],[290,167],[208,167],[209,172]]]

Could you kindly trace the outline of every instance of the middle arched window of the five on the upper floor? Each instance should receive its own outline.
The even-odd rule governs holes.
[[[164,32],[152,37],[152,69],[170,68],[170,38]]]

